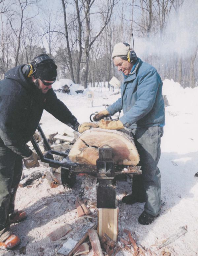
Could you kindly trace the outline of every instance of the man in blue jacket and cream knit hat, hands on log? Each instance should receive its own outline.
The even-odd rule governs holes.
[[[97,121],[117,111],[124,115],[118,121],[99,122],[100,128],[131,130],[140,155],[142,175],[134,175],[132,194],[122,198],[122,202],[133,204],[146,202],[138,221],[148,225],[161,210],[160,171],[157,167],[160,158],[160,138],[165,125],[162,81],[156,69],[137,58],[127,43],[115,45],[112,58],[118,70],[123,73],[121,97],[107,110],[95,115]]]

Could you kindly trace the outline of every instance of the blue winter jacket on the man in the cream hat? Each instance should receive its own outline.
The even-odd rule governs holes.
[[[153,66],[140,58],[135,70],[124,76],[121,98],[107,108],[110,115],[121,109],[124,115],[119,120],[127,128],[165,125],[161,78]]]

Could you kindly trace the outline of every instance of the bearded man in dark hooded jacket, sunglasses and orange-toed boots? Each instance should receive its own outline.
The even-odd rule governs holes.
[[[42,54],[30,64],[12,68],[0,82],[0,248],[11,249],[20,239],[12,235],[10,224],[27,214],[15,211],[16,190],[22,174],[22,159],[27,168],[39,166],[39,157],[26,143],[39,125],[45,109],[62,123],[83,132],[93,123],[79,125],[75,116],[52,89],[57,66]]]

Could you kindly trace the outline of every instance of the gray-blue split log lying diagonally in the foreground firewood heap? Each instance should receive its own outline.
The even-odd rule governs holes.
[[[78,230],[73,238],[68,238],[63,246],[58,250],[57,255],[71,256],[73,252],[81,245],[85,239],[88,237],[88,229],[94,229],[96,227],[95,223],[87,223]]]

